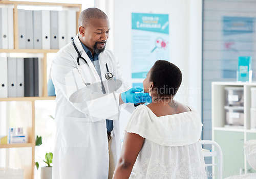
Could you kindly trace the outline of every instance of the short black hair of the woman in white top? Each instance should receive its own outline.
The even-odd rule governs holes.
[[[182,82],[182,73],[173,63],[158,60],[151,69],[150,79],[158,95],[175,95]]]

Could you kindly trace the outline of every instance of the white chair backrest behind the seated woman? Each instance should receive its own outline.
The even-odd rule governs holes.
[[[218,157],[218,163],[205,164],[208,166],[218,165],[218,178],[222,178],[222,150],[220,145],[212,140],[201,140],[202,145],[211,145],[214,146],[214,150],[203,150],[204,157]]]

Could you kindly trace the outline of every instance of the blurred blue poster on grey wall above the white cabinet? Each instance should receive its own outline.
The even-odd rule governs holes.
[[[223,78],[237,78],[238,58],[253,56],[254,38],[253,17],[223,17]]]

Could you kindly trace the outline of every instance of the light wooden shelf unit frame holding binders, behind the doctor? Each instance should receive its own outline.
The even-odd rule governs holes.
[[[29,147],[32,149],[32,158],[31,165],[24,166],[24,178],[33,179],[34,178],[34,166],[35,166],[35,101],[36,100],[54,100],[55,96],[48,96],[47,90],[47,54],[48,53],[57,53],[59,49],[19,49],[18,48],[18,9],[19,5],[26,6],[47,6],[47,7],[63,7],[63,8],[77,8],[76,10],[76,32],[78,32],[78,18],[81,13],[81,4],[62,4],[62,3],[44,3],[44,2],[18,2],[18,1],[0,1],[0,6],[4,5],[13,5],[13,27],[14,27],[14,49],[0,49],[0,53],[27,53],[27,54],[43,54],[43,90],[41,97],[9,97],[9,98],[0,98],[0,101],[30,101],[31,102],[31,111],[32,111],[32,126],[31,129],[28,129],[28,143],[20,144],[0,144],[0,149],[9,149],[9,148],[23,148]],[[1,119],[0,120],[5,120]],[[6,134],[7,135],[7,134]]]

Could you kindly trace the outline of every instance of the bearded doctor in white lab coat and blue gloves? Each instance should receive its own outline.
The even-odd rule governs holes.
[[[110,31],[105,13],[86,9],[78,24],[78,35],[59,50],[51,68],[56,92],[53,178],[112,178],[121,146],[120,108],[132,112],[132,103],[151,97],[124,85],[116,57],[105,49]]]

